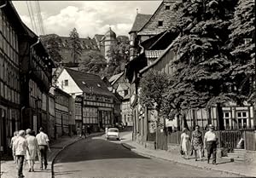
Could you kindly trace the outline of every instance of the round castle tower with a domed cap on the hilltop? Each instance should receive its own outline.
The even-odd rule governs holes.
[[[110,57],[108,56],[108,53],[113,46],[117,45],[116,34],[111,30],[111,27],[109,27],[108,32],[105,33],[103,43],[105,48],[105,58],[107,62],[109,62]]]

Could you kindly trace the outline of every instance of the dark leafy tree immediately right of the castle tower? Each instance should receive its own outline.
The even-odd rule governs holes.
[[[108,50],[108,67],[106,73],[108,76],[118,74],[125,69],[125,64],[129,60],[129,41],[120,40],[117,45]]]

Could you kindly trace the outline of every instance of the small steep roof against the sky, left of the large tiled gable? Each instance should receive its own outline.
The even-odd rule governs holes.
[[[131,32],[140,31],[143,28],[143,26],[148,22],[148,20],[151,18],[151,16],[152,14],[137,14],[129,34]]]

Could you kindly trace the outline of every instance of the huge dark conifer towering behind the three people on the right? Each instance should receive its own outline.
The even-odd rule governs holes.
[[[228,0],[183,0],[177,3],[176,28],[180,37],[173,49],[177,49],[181,57],[173,62],[176,72],[174,83],[166,94],[166,100],[171,102],[166,114],[213,104],[219,109],[221,103],[232,100],[231,62],[226,42],[235,5],[236,1]],[[223,122],[221,111],[218,113]]]

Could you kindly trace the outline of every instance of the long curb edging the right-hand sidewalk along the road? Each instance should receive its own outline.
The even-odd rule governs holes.
[[[238,175],[238,176],[243,176],[243,177],[255,177],[253,175],[244,175],[244,174],[241,174],[241,173],[231,172],[229,170],[209,168],[209,167],[201,166],[201,165],[191,165],[191,164],[181,163],[181,162],[178,162],[178,161],[172,160],[172,159],[156,157],[154,155],[150,155],[150,154],[147,154],[147,153],[144,153],[144,152],[138,152],[137,148],[131,148],[133,146],[130,146],[129,144],[126,144],[126,143],[122,143],[122,146],[124,146],[126,149],[130,150],[131,152],[136,152],[137,154],[139,154],[143,157],[161,159],[161,160],[165,160],[165,161],[168,161],[168,162],[172,162],[174,164],[183,164],[183,165],[186,165],[186,166],[191,166],[191,167],[195,167],[195,168],[199,168],[199,169],[216,170],[216,171],[223,172],[223,173],[229,174],[229,175],[231,174],[231,175]]]

